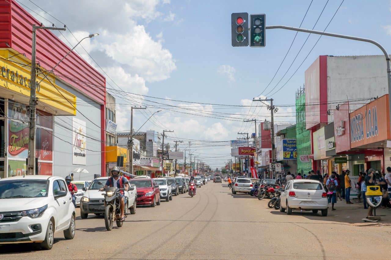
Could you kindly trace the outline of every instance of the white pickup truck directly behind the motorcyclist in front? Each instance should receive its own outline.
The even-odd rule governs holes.
[[[88,214],[95,214],[99,216],[104,214],[104,192],[99,191],[106,184],[109,177],[99,177],[92,181],[90,186],[84,187],[83,197],[80,200],[80,217],[86,219]],[[99,184],[101,182],[102,184]],[[131,184],[131,183],[129,183]],[[130,185],[129,185],[130,186]],[[126,210],[129,210],[131,214],[136,214],[136,192],[135,185],[133,191],[128,190],[125,192],[126,196]]]

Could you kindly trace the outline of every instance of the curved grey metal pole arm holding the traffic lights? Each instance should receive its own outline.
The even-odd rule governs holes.
[[[387,63],[387,82],[388,82],[388,102],[391,104],[391,56],[388,54],[386,49],[380,45],[377,41],[373,41],[368,38],[361,38],[356,36],[350,36],[350,35],[344,35],[344,34],[335,34],[332,32],[323,32],[323,31],[317,31],[317,30],[310,30],[310,29],[303,29],[298,27],[291,27],[286,25],[270,25],[266,26],[266,29],[285,29],[285,30],[292,30],[297,32],[308,32],[310,34],[320,34],[325,36],[331,36],[331,37],[337,37],[337,38],[344,38],[344,39],[350,39],[355,41],[365,41],[367,43],[372,43],[384,53],[384,56],[386,56],[386,63]],[[389,113],[391,116],[391,105],[389,106]]]

